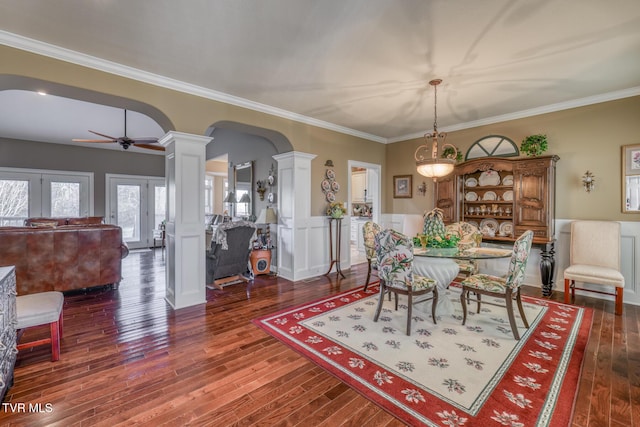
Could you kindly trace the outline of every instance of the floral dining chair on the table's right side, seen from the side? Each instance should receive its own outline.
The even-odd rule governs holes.
[[[462,294],[460,302],[462,303],[462,324],[467,321],[467,299],[469,292],[474,292],[478,301],[478,313],[480,313],[481,295],[488,295],[496,298],[504,298],[509,316],[509,324],[513,331],[513,337],[520,339],[518,326],[513,312],[513,300],[515,298],[518,305],[520,317],[525,328],[529,329],[529,322],[524,315],[522,308],[522,300],[520,298],[520,286],[524,281],[525,268],[527,267],[527,259],[531,252],[531,242],[533,241],[533,231],[525,231],[513,244],[513,254],[509,263],[509,270],[505,277],[497,277],[489,274],[474,274],[462,281]],[[496,305],[485,302],[485,304]]]

